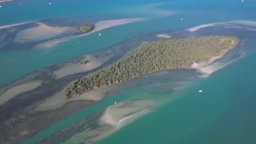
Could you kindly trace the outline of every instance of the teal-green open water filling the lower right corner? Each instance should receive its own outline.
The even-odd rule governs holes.
[[[255,143],[255,56],[194,82],[175,93],[181,99],[97,143]]]

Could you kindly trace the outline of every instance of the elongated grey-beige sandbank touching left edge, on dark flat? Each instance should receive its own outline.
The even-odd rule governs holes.
[[[21,93],[21,92],[27,92],[34,88],[37,88],[41,85],[43,80],[36,80],[36,81],[28,81],[25,83],[21,83],[17,86],[9,88],[7,91],[5,91],[3,94],[0,95],[0,105],[4,104],[6,101],[13,98],[15,95]]]

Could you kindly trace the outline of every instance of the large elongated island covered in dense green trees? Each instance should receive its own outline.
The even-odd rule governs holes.
[[[94,89],[127,82],[136,77],[171,69],[192,69],[191,65],[211,64],[238,44],[236,37],[203,36],[153,41],[143,44],[133,54],[90,78],[75,80],[65,89],[65,99]]]

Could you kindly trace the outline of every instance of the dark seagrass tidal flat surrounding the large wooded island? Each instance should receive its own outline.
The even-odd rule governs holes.
[[[159,89],[158,88],[150,89],[150,91],[147,90],[148,92],[166,93],[165,98],[163,98],[164,100],[166,100],[166,97],[170,97],[170,95],[173,92],[177,91],[179,88],[189,85],[189,80],[198,79],[199,77],[202,77],[205,74],[197,70],[162,71],[160,73],[139,77],[135,80],[132,80],[126,83],[120,83],[119,85],[115,85],[109,88],[99,89],[97,90],[97,91],[100,91],[97,93],[98,95],[97,97],[100,97],[98,99],[92,99],[92,98],[90,99],[89,96],[86,97],[87,95],[86,93],[84,96],[81,96],[82,98],[79,98],[80,96],[77,96],[70,100],[65,100],[64,97],[61,97],[61,95],[62,95],[63,89],[71,85],[71,83],[74,80],[79,79],[81,77],[90,76],[92,73],[95,73],[96,71],[108,68],[109,65],[112,65],[115,62],[119,61],[120,59],[125,58],[125,56],[127,56],[127,53],[131,52],[139,45],[143,43],[149,43],[155,40],[165,40],[166,38],[159,38],[156,36],[161,33],[170,35],[171,38],[199,37],[200,35],[235,35],[238,37],[238,39],[241,40],[240,44],[237,46],[236,49],[230,51],[228,55],[226,55],[223,58],[223,59],[226,58],[225,61],[223,59],[219,59],[218,61],[215,62],[215,64],[220,62],[224,62],[224,63],[231,62],[233,60],[235,61],[237,57],[243,56],[243,52],[249,51],[246,49],[246,47],[248,47],[247,45],[249,45],[253,41],[252,39],[250,39],[250,37],[254,37],[254,38],[256,37],[253,31],[244,30],[248,28],[247,26],[244,26],[244,25],[239,25],[239,26],[240,28],[237,28],[237,27],[226,28],[223,25],[217,25],[217,26],[211,26],[211,27],[203,27],[194,32],[181,29],[180,31],[175,31],[175,32],[161,31],[161,32],[143,33],[143,34],[135,35],[128,39],[122,40],[119,43],[110,45],[102,50],[87,53],[85,55],[81,55],[79,57],[69,59],[68,61],[63,61],[60,63],[49,65],[48,67],[35,71],[34,73],[29,74],[26,77],[21,78],[20,80],[15,81],[10,85],[7,85],[1,88],[1,94],[2,94],[7,92],[8,89],[11,89],[15,86],[22,85],[22,83],[24,84],[26,82],[39,81],[39,80],[40,82],[42,82],[40,83],[40,86],[33,89],[28,89],[28,91],[19,93],[16,96],[14,95],[14,97],[12,97],[10,100],[0,105],[1,107],[0,128],[2,129],[0,139],[3,140],[3,143],[14,143],[14,142],[21,142],[21,141],[27,140],[29,139],[29,137],[33,137],[33,136],[36,136],[37,134],[40,134],[40,130],[43,130],[47,127],[50,128],[51,126],[53,126],[54,123],[58,121],[59,122],[61,122],[62,120],[65,121],[65,118],[73,117],[74,113],[86,110],[86,107],[91,107],[92,105],[97,104],[99,101],[107,100],[112,95],[116,95],[118,93],[127,91],[129,89],[130,90],[135,89],[137,87],[147,88],[152,85],[154,86],[162,85],[163,83],[168,83],[171,81],[173,82],[172,84],[174,86],[167,85],[164,88],[161,87]],[[250,37],[247,37],[247,35],[249,35]],[[246,43],[244,43],[245,41]],[[83,69],[83,70],[79,69],[77,71],[75,71],[74,69],[72,73],[65,72],[65,74],[62,74],[60,76],[60,72],[62,70],[66,71],[67,67],[69,67],[70,65],[75,65],[75,64],[79,65],[79,62],[83,61],[88,57],[91,59],[92,58],[97,59],[97,61],[100,61],[101,63],[95,64],[95,67],[92,67],[91,69]],[[215,68],[212,71],[212,73],[220,68],[223,68],[223,67]],[[176,85],[175,85],[175,82],[176,82]],[[90,97],[93,97],[93,95],[94,94],[92,94]],[[52,101],[51,98],[55,98],[55,97],[56,99],[54,100],[54,103],[48,105],[49,101]],[[131,110],[129,112],[132,113],[132,115],[139,113],[138,116],[142,116],[148,111],[151,111],[154,106],[162,104],[162,102],[159,102],[159,104],[156,104],[156,105],[148,103],[149,105],[147,105],[146,107],[143,107],[143,108],[139,107],[140,104],[136,104],[136,103],[137,102],[139,103],[139,101],[141,100],[145,100],[144,99],[145,97],[146,95],[143,96],[143,94],[140,97],[132,97],[132,98],[129,98],[129,95],[127,95],[127,101],[124,103],[120,103],[120,105],[119,104],[118,105],[120,107],[126,107],[126,106],[129,107],[129,104],[138,105],[137,107],[138,109]],[[131,102],[132,100],[135,100],[135,101]],[[126,104],[126,103],[127,105],[124,106],[123,104]],[[98,113],[96,112],[96,114],[94,115],[91,115],[91,116],[88,115],[88,117],[77,119],[76,121],[74,121],[74,124],[73,123],[69,124],[70,127],[68,127],[69,125],[66,125],[65,127],[67,127],[67,129],[73,129],[73,131],[75,131],[78,137],[79,137],[79,133],[85,133],[86,131],[89,131],[89,129],[95,129],[95,130],[100,129],[100,134],[102,135],[102,137],[107,136],[106,133],[102,133],[102,131],[106,131],[106,129],[101,129],[102,123],[95,124],[94,122],[95,121],[100,122],[100,119],[104,115],[106,115],[106,111],[109,111],[111,109],[109,107],[111,105],[113,105],[113,103],[106,104],[107,108],[101,107],[100,109],[98,109]],[[118,105],[115,105],[115,106],[118,106]],[[45,107],[49,107],[49,109],[45,109]],[[116,115],[114,115],[114,117],[115,116]],[[127,115],[127,113],[120,113],[119,116],[120,118],[118,119],[120,120],[129,115]],[[91,123],[88,121],[91,121]],[[86,125],[83,128],[78,130],[78,127],[80,127],[80,124],[85,124],[85,123]],[[103,124],[103,126],[106,126],[106,125]],[[113,125],[110,124],[107,127],[112,128]],[[59,130],[62,130],[62,128]],[[54,141],[56,140],[55,138],[60,137],[62,133],[65,133],[66,137],[69,137],[69,138],[77,137],[73,135],[74,133],[68,133],[67,132],[68,130],[63,130],[62,132],[57,133],[57,131],[59,130],[52,131],[54,132],[53,134],[49,133],[48,136],[44,137],[44,139],[48,137],[48,139],[45,141]],[[89,131],[89,133],[86,132],[86,134],[88,134],[88,139],[86,139],[85,141],[94,141],[102,138],[102,137],[99,137],[99,138],[92,137],[92,135],[94,135],[95,133],[91,133],[91,132],[94,132],[94,131]],[[39,141],[43,141],[44,139]],[[74,139],[77,139],[77,138],[74,138]],[[69,139],[62,137],[60,140],[68,141]]]

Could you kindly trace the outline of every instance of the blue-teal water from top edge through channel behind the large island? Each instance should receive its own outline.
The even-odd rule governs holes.
[[[19,5],[20,2],[22,5]],[[191,4],[196,6],[196,3],[203,3],[205,7],[195,10],[193,6],[186,6]],[[4,15],[0,16],[0,26],[49,18],[73,19],[75,17],[84,17],[83,20],[86,21],[86,17],[89,17],[89,20],[92,17],[95,17],[95,19],[97,17],[108,17],[108,19],[111,19],[111,17],[113,19],[117,19],[117,17],[145,17],[148,20],[105,29],[101,32],[102,37],[100,38],[95,33],[70,40],[68,43],[51,49],[36,52],[34,50],[24,50],[26,47],[11,51],[0,49],[0,87],[47,65],[102,49],[131,35],[151,31],[184,29],[203,23],[255,19],[252,12],[252,5],[255,5],[253,2],[232,2],[230,5],[231,1],[225,1],[222,4],[230,7],[229,10],[222,7],[217,7],[213,10],[212,4],[217,3],[216,1],[207,4],[202,1],[179,3],[54,1],[51,5],[45,1],[2,3],[0,13]],[[207,7],[209,8],[206,9]],[[8,17],[12,18],[9,19]],[[184,19],[183,21],[181,21],[181,17]],[[104,35],[107,35],[107,37],[104,37]],[[84,43],[75,45],[78,40],[84,41]],[[17,62],[20,64],[16,65]],[[24,67],[25,65],[30,65],[30,67]],[[14,70],[19,71],[19,73]]]

